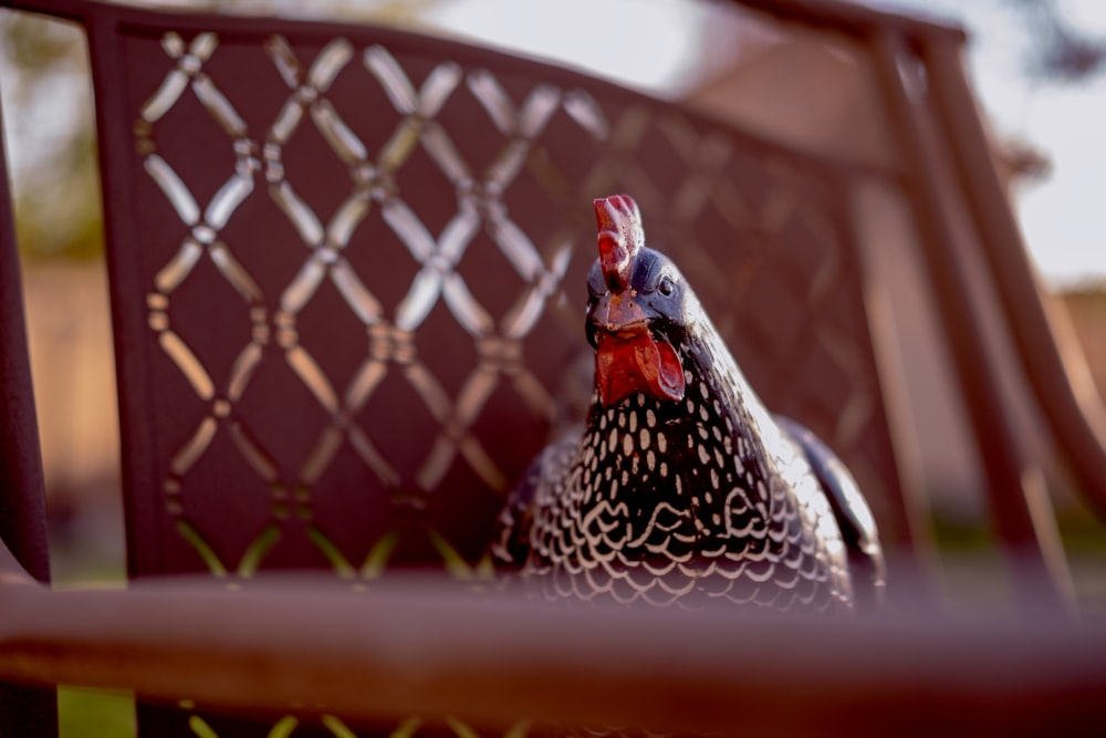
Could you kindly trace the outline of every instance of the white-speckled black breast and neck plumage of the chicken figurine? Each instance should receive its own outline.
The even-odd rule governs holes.
[[[693,345],[686,352],[686,365],[701,366]],[[697,378],[700,403],[637,395],[593,407],[595,429],[564,444],[564,467],[533,490],[528,550],[515,562],[532,588],[654,605],[848,606],[841,536],[801,450],[764,428],[766,413],[749,412],[759,401],[735,368],[714,372],[717,386],[710,378]],[[719,396],[722,416],[705,420],[700,410]],[[703,436],[705,423],[734,430]],[[679,437],[686,448],[668,443]],[[510,560],[504,516],[493,550]]]

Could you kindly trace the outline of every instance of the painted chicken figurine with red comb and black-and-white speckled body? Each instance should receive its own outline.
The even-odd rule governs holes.
[[[848,611],[884,586],[878,536],[844,465],[768,413],[634,200],[595,200],[587,277],[594,393],[547,446],[491,547],[549,599]]]

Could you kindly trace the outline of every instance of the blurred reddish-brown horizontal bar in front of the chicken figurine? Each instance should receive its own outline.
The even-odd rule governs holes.
[[[726,735],[1065,735],[1098,724],[1106,695],[1106,633],[1044,616],[815,622],[458,588],[174,579],[52,592],[24,579],[0,589],[0,678],[239,714]]]

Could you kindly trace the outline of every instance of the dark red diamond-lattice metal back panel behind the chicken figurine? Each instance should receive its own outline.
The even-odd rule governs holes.
[[[160,559],[138,570],[474,562],[585,347],[591,198],[614,191],[640,202],[770,406],[886,507],[832,169],[499,58],[156,43],[128,40],[146,60],[128,94],[149,349],[122,361],[147,362],[157,479],[137,493],[163,521],[137,533]]]

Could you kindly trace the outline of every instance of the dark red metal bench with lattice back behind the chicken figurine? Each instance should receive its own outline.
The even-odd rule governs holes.
[[[724,119],[713,100],[660,101],[427,34],[67,0],[0,4],[75,21],[88,38],[135,579],[128,592],[90,593],[50,593],[28,579],[45,580],[48,565],[4,194],[0,509],[18,514],[0,516],[14,555],[0,584],[13,613],[9,630],[0,624],[0,676],[133,687],[149,735],[189,735],[197,719],[220,736],[246,725],[206,707],[265,714],[272,725],[298,706],[306,716],[298,736],[334,735],[336,724],[320,717],[332,709],[393,728],[406,710],[501,727],[524,715],[617,720],[636,709],[674,727],[679,710],[634,699],[633,673],[599,662],[633,651],[630,635],[605,631],[613,645],[591,656],[571,647],[592,626],[617,630],[604,614],[562,621],[524,603],[470,602],[444,584],[397,592],[380,576],[480,565],[492,519],[545,441],[564,367],[583,345],[591,198],[625,190],[769,406],[813,428],[858,477],[897,554],[900,610],[928,589],[931,543],[911,468],[909,393],[896,375],[912,339],[898,332],[895,284],[884,277],[888,253],[915,260],[910,279],[928,295],[953,367],[952,402],[968,418],[1019,596],[1045,613],[1033,615],[1045,625],[1031,620],[984,638],[979,668],[1001,672],[1003,649],[1029,638],[1056,651],[1027,646],[1027,663],[1077,687],[1061,699],[1042,675],[1026,677],[988,693],[984,711],[993,718],[1026,697],[1003,718],[1025,725],[1015,720],[1055,717],[1058,707],[1034,711],[1047,697],[1071,709],[1065,719],[1087,714],[1079,689],[1100,684],[1103,669],[1073,654],[1102,654],[1102,640],[1052,627],[1070,606],[1063,551],[1035,487],[1041,459],[1010,408],[1032,406],[1103,510],[1102,406],[1067,380],[988,158],[959,31],[836,2],[735,3],[757,22],[824,34],[870,71],[894,156],[857,163]],[[880,198],[901,208],[889,230],[874,230],[865,209]],[[876,242],[904,228],[899,251]],[[984,267],[983,282],[966,261]],[[1008,374],[1024,387],[1018,398],[997,381]],[[311,583],[257,583],[303,571]],[[335,592],[316,579],[368,591]],[[444,607],[458,610],[436,624]],[[630,628],[638,638],[678,627],[671,614],[643,619]],[[770,700],[779,707],[817,675],[830,678],[826,659],[847,652],[811,634],[834,634],[868,655],[846,678],[847,700],[834,703],[831,689],[793,727],[844,725],[849,705],[872,709],[875,730],[912,688],[938,689],[950,710],[971,692],[957,679],[940,687],[952,675],[918,644],[948,667],[957,647],[984,635],[910,623],[877,627],[870,642],[857,626],[761,624],[763,642],[719,653],[766,658],[793,638],[807,644],[810,661],[784,661],[823,671],[765,678],[781,690]],[[470,647],[428,656],[415,645],[420,627]],[[549,641],[504,667],[510,648],[546,628]],[[692,652],[711,668],[724,664],[703,648],[727,633],[708,620]],[[442,638],[427,636],[426,647],[446,648]],[[891,667],[866,643],[894,644],[904,664]],[[584,698],[581,687],[566,693],[578,703],[559,711],[540,694],[543,667],[568,667],[557,646],[595,669],[580,685],[599,688],[602,676],[614,696]],[[656,666],[666,654],[654,643],[628,663]],[[494,678],[476,677],[493,667],[503,667]],[[690,659],[677,659],[640,694],[693,674]],[[689,682],[703,689],[703,711],[687,726],[721,730],[722,700],[753,677],[739,672],[707,687],[707,674]],[[480,697],[477,685],[498,697]],[[536,692],[526,697],[523,687]],[[23,687],[0,696],[25,706],[15,719],[38,719]],[[889,701],[873,708],[879,698]],[[770,703],[748,714],[752,725],[771,725]]]

